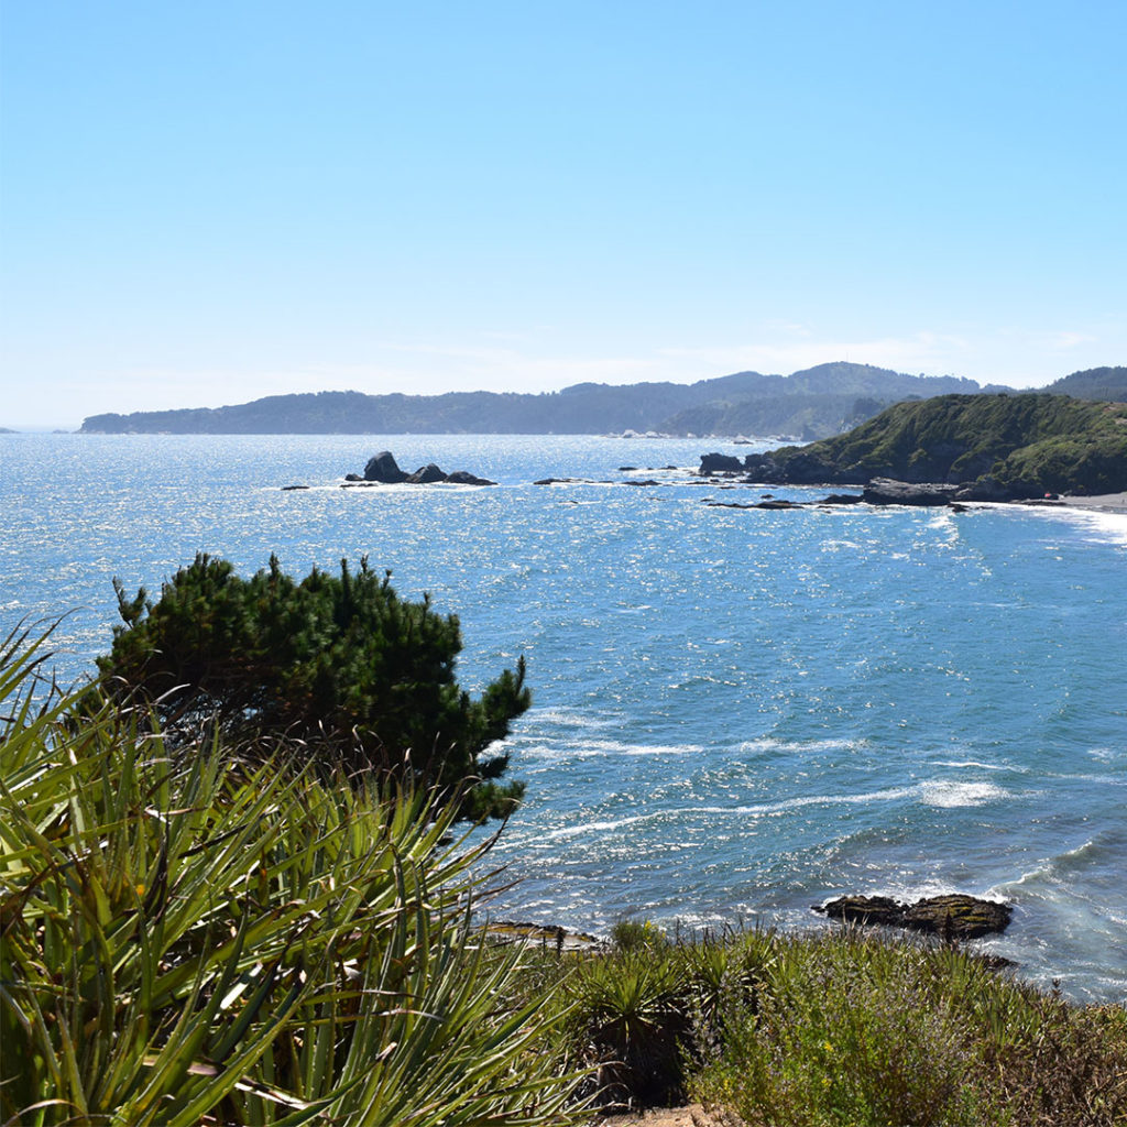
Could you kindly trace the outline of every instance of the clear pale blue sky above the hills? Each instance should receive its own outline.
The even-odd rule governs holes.
[[[1127,363],[1121,0],[0,0],[0,426]]]

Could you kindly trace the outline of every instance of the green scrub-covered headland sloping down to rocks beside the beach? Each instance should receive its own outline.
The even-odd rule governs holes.
[[[745,459],[761,481],[976,482],[984,495],[1127,490],[1127,403],[1044,393],[897,403],[806,446]]]

